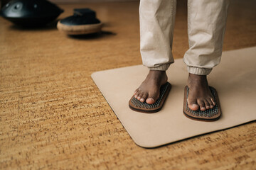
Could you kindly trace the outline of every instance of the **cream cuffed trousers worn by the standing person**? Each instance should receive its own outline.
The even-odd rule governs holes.
[[[228,0],[188,0],[188,43],[183,61],[192,74],[207,75],[217,64],[223,47]],[[166,70],[171,53],[176,0],[141,0],[140,50],[149,69]]]

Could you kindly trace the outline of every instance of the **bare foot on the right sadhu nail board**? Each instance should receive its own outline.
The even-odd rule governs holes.
[[[206,111],[215,106],[206,76],[189,74],[188,88],[188,108],[193,111],[199,108],[201,111]]]

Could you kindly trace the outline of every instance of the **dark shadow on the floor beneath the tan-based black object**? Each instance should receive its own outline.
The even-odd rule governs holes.
[[[91,33],[91,34],[85,34],[85,35],[68,35],[68,37],[75,38],[78,40],[91,40],[91,39],[96,39],[96,38],[107,37],[108,35],[117,35],[117,34],[110,32],[110,31],[102,30],[100,33]]]

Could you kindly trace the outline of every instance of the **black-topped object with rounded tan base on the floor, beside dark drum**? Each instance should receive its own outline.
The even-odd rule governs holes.
[[[75,8],[73,16],[58,21],[57,28],[68,35],[84,35],[100,32],[102,23],[90,8]]]

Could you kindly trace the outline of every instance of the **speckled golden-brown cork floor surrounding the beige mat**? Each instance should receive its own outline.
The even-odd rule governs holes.
[[[188,48],[184,4],[176,58]],[[256,45],[255,5],[232,1],[223,50]],[[255,169],[255,122],[156,149],[135,145],[90,74],[142,63],[138,2],[60,7],[60,18],[95,9],[105,32],[70,38],[0,18],[0,169]]]

